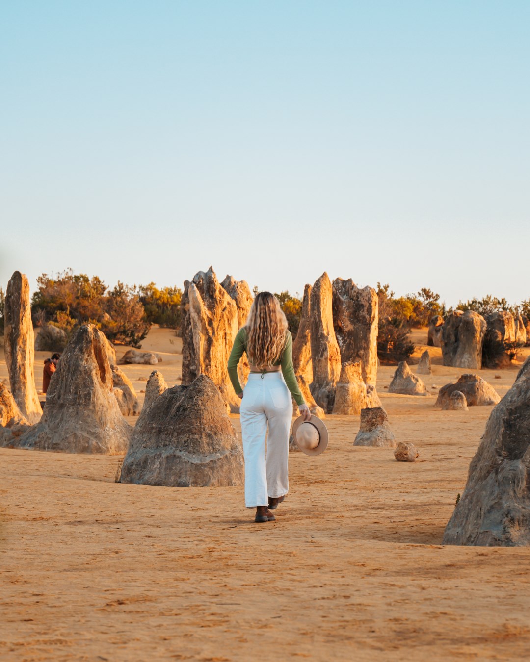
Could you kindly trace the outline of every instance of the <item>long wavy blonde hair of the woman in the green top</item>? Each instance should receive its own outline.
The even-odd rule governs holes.
[[[264,370],[282,355],[288,330],[280,301],[270,292],[259,292],[246,318],[246,354],[252,365]]]

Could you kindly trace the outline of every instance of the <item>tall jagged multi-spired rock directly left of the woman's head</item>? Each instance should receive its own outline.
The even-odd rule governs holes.
[[[237,306],[221,287],[212,267],[185,281],[182,295],[182,385],[208,375],[231,412],[239,412],[240,399],[228,375],[228,357],[238,332]]]

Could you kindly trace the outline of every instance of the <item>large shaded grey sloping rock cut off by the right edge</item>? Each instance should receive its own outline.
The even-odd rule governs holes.
[[[492,411],[444,545],[530,545],[530,359]]]

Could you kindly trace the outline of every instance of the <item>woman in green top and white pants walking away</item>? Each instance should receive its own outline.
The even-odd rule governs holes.
[[[293,339],[280,302],[270,292],[258,293],[245,326],[238,331],[228,361],[232,385],[242,398],[245,504],[247,508],[256,507],[256,522],[274,520],[270,510],[274,510],[289,491],[291,395],[303,420],[311,418],[294,374],[292,349]],[[243,352],[250,363],[244,391],[237,377],[237,365]]]

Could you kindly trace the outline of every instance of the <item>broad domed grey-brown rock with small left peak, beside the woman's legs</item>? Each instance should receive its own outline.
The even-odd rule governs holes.
[[[242,485],[243,452],[219,389],[207,375],[166,387],[154,371],[121,469],[121,483]]]

